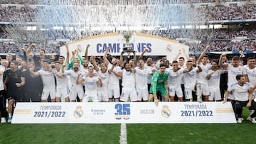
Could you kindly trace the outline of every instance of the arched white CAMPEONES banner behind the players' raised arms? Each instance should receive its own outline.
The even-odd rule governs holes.
[[[123,35],[119,35],[118,33],[108,33],[76,40],[69,44],[69,51],[71,55],[71,51],[79,50],[78,45],[81,45],[82,49],[80,50],[79,55],[82,56],[85,55],[86,45],[90,44],[88,55],[104,55],[108,46],[110,47],[109,53],[111,55],[120,55],[125,43]],[[143,50],[147,48],[149,51],[144,55],[166,55],[171,61],[178,54],[178,50],[181,50],[181,52],[185,50],[188,53],[187,45],[178,43],[176,40],[170,40],[156,35],[134,33],[132,34],[129,43],[130,46],[137,51],[137,55],[141,55]],[[60,55],[66,55],[65,46],[60,48]],[[179,56],[185,57],[183,53]]]

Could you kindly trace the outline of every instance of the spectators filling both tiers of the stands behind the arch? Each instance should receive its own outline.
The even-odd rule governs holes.
[[[230,0],[241,1],[241,0]],[[220,0],[220,3],[230,2],[228,0]],[[38,1],[33,0],[3,0],[1,4],[37,4]],[[143,1],[142,1],[143,2]],[[215,0],[191,0],[191,3],[213,3]],[[0,22],[32,22],[36,16],[36,8],[32,9],[29,6],[1,6],[0,7]],[[230,5],[226,6],[201,6],[198,8],[201,16],[206,16],[209,21],[215,20],[239,20],[239,19],[256,19],[256,4],[245,4],[242,6]],[[202,17],[205,18],[205,17]],[[205,21],[205,19],[203,19]],[[48,40],[78,40],[86,38],[90,35],[98,35],[102,33],[88,33],[81,31],[28,31],[21,33],[17,38],[12,38],[11,35],[0,32],[0,39],[12,39],[13,42],[0,42],[0,53],[17,53],[17,48],[27,47],[31,43],[36,43],[38,47],[45,48],[48,53],[58,53],[59,43],[49,43]],[[147,33],[147,32],[145,32]],[[186,38],[197,40],[197,43],[186,43],[179,40],[181,43],[186,43],[190,46],[191,53],[201,52],[206,45],[211,45],[210,51],[237,51],[237,50],[255,50],[256,30],[250,31],[227,31],[227,30],[198,30],[184,31],[183,29],[159,31],[157,35],[172,40]],[[241,38],[237,38],[241,37]],[[41,40],[41,41],[38,41]],[[16,42],[18,41],[18,43]]]

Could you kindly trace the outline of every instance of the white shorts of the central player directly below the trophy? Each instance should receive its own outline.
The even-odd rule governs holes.
[[[130,101],[137,101],[137,92],[135,88],[128,88],[125,89],[123,87],[122,94],[120,96],[120,101],[127,102],[128,98],[130,98]]]

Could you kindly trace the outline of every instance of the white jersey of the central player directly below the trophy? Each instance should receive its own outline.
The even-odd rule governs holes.
[[[122,70],[122,87],[125,88],[135,88],[135,74],[134,72]]]

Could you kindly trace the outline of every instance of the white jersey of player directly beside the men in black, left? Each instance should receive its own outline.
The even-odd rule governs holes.
[[[38,70],[43,81],[43,89],[55,89],[55,79],[53,72]]]

